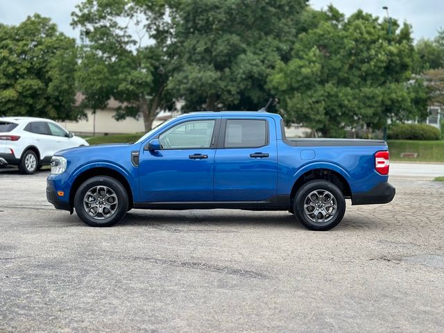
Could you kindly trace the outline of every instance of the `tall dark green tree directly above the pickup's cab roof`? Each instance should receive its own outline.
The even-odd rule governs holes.
[[[296,42],[305,0],[178,1],[171,18],[177,57],[168,89],[183,110],[257,110],[266,79]]]

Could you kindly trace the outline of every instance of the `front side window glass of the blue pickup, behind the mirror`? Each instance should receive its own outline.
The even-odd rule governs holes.
[[[163,149],[210,148],[214,120],[180,123],[159,137]]]

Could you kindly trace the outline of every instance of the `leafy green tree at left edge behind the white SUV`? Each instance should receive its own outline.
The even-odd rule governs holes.
[[[0,114],[77,119],[76,42],[38,14],[0,24]]]

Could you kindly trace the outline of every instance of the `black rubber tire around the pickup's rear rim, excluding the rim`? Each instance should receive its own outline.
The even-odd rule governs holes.
[[[311,221],[304,212],[305,198],[311,191],[316,191],[316,189],[330,191],[330,193],[336,198],[336,203],[338,205],[337,212],[333,219],[322,225]],[[302,225],[305,225],[305,227],[309,230],[330,230],[338,225],[343,219],[345,214],[345,199],[339,187],[334,185],[332,182],[329,182],[328,180],[313,180],[311,182],[307,182],[305,185],[302,185],[302,187],[298,190],[294,199],[293,210],[296,219],[298,219],[298,221],[300,221]]]

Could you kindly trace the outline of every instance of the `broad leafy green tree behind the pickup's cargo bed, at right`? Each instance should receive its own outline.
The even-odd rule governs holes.
[[[386,20],[361,10],[344,19],[330,6],[268,80],[286,120],[341,137],[348,127],[379,129],[387,119],[423,115],[427,94],[411,80],[410,27],[392,19],[391,31]]]

